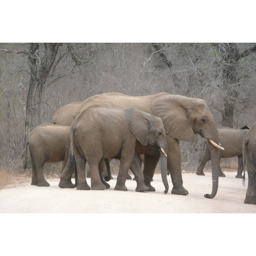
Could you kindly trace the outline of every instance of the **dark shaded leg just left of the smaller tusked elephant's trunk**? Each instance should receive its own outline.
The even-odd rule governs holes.
[[[145,185],[148,186],[149,191],[156,191],[156,189],[151,186],[151,181],[154,176],[154,171],[157,167],[157,163],[160,159],[160,155],[156,156],[150,156],[150,155],[144,155],[144,169],[143,169],[143,175],[145,179]]]

